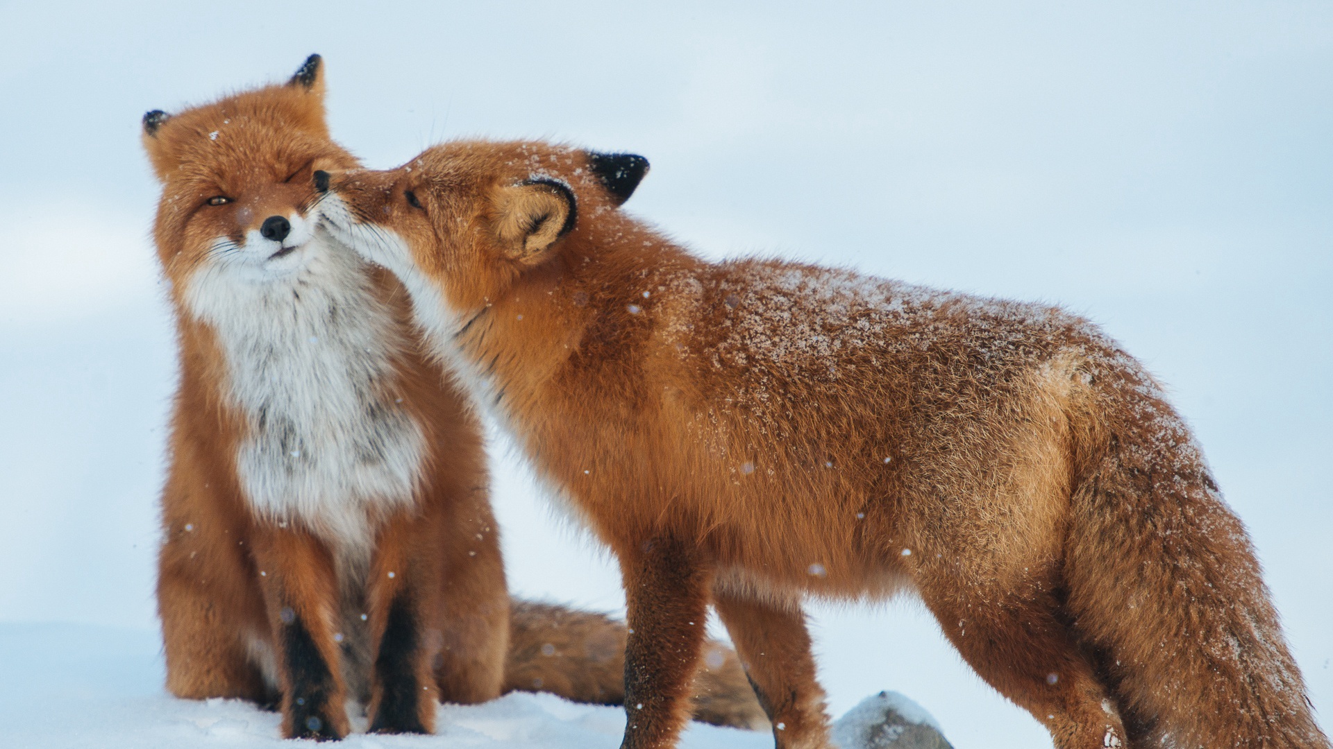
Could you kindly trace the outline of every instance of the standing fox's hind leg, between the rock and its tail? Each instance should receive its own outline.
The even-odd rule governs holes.
[[[1049,585],[1017,593],[942,576],[918,577],[918,585],[968,665],[1045,725],[1057,749],[1126,746],[1116,702]]]

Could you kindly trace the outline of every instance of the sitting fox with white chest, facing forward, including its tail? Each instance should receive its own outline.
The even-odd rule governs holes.
[[[288,738],[432,733],[512,690],[620,704],[623,622],[508,594],[477,412],[401,284],[321,228],[335,143],[313,55],[287,83],[143,119],[179,343],[161,490],[167,689],[281,710]],[[701,720],[766,729],[713,644]]]

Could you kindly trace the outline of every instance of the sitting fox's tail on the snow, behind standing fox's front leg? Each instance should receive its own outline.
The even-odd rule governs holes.
[[[511,598],[504,690],[551,692],[576,702],[621,705],[627,636],[623,622],[604,614]],[[713,725],[769,730],[736,652],[721,642],[704,645],[702,665],[694,676],[693,717]]]

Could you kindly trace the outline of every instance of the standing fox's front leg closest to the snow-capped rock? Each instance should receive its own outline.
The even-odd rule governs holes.
[[[824,690],[814,680],[814,657],[800,604],[781,608],[714,590],[713,605],[745,665],[760,705],[773,724],[778,749],[828,746]]]

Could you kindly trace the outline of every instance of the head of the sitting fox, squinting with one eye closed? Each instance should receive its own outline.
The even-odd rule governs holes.
[[[319,55],[284,84],[148,112],[143,143],[163,184],[155,239],[173,280],[201,267],[289,273],[317,224],[312,173],[357,165],[329,140]]]

